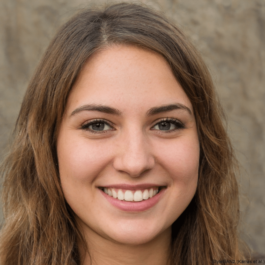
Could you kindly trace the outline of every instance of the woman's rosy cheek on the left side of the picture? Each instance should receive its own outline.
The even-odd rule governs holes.
[[[111,150],[71,131],[58,137],[57,156],[62,190],[70,207],[82,216],[94,196],[94,180],[106,170]],[[89,211],[89,210],[88,210]]]

